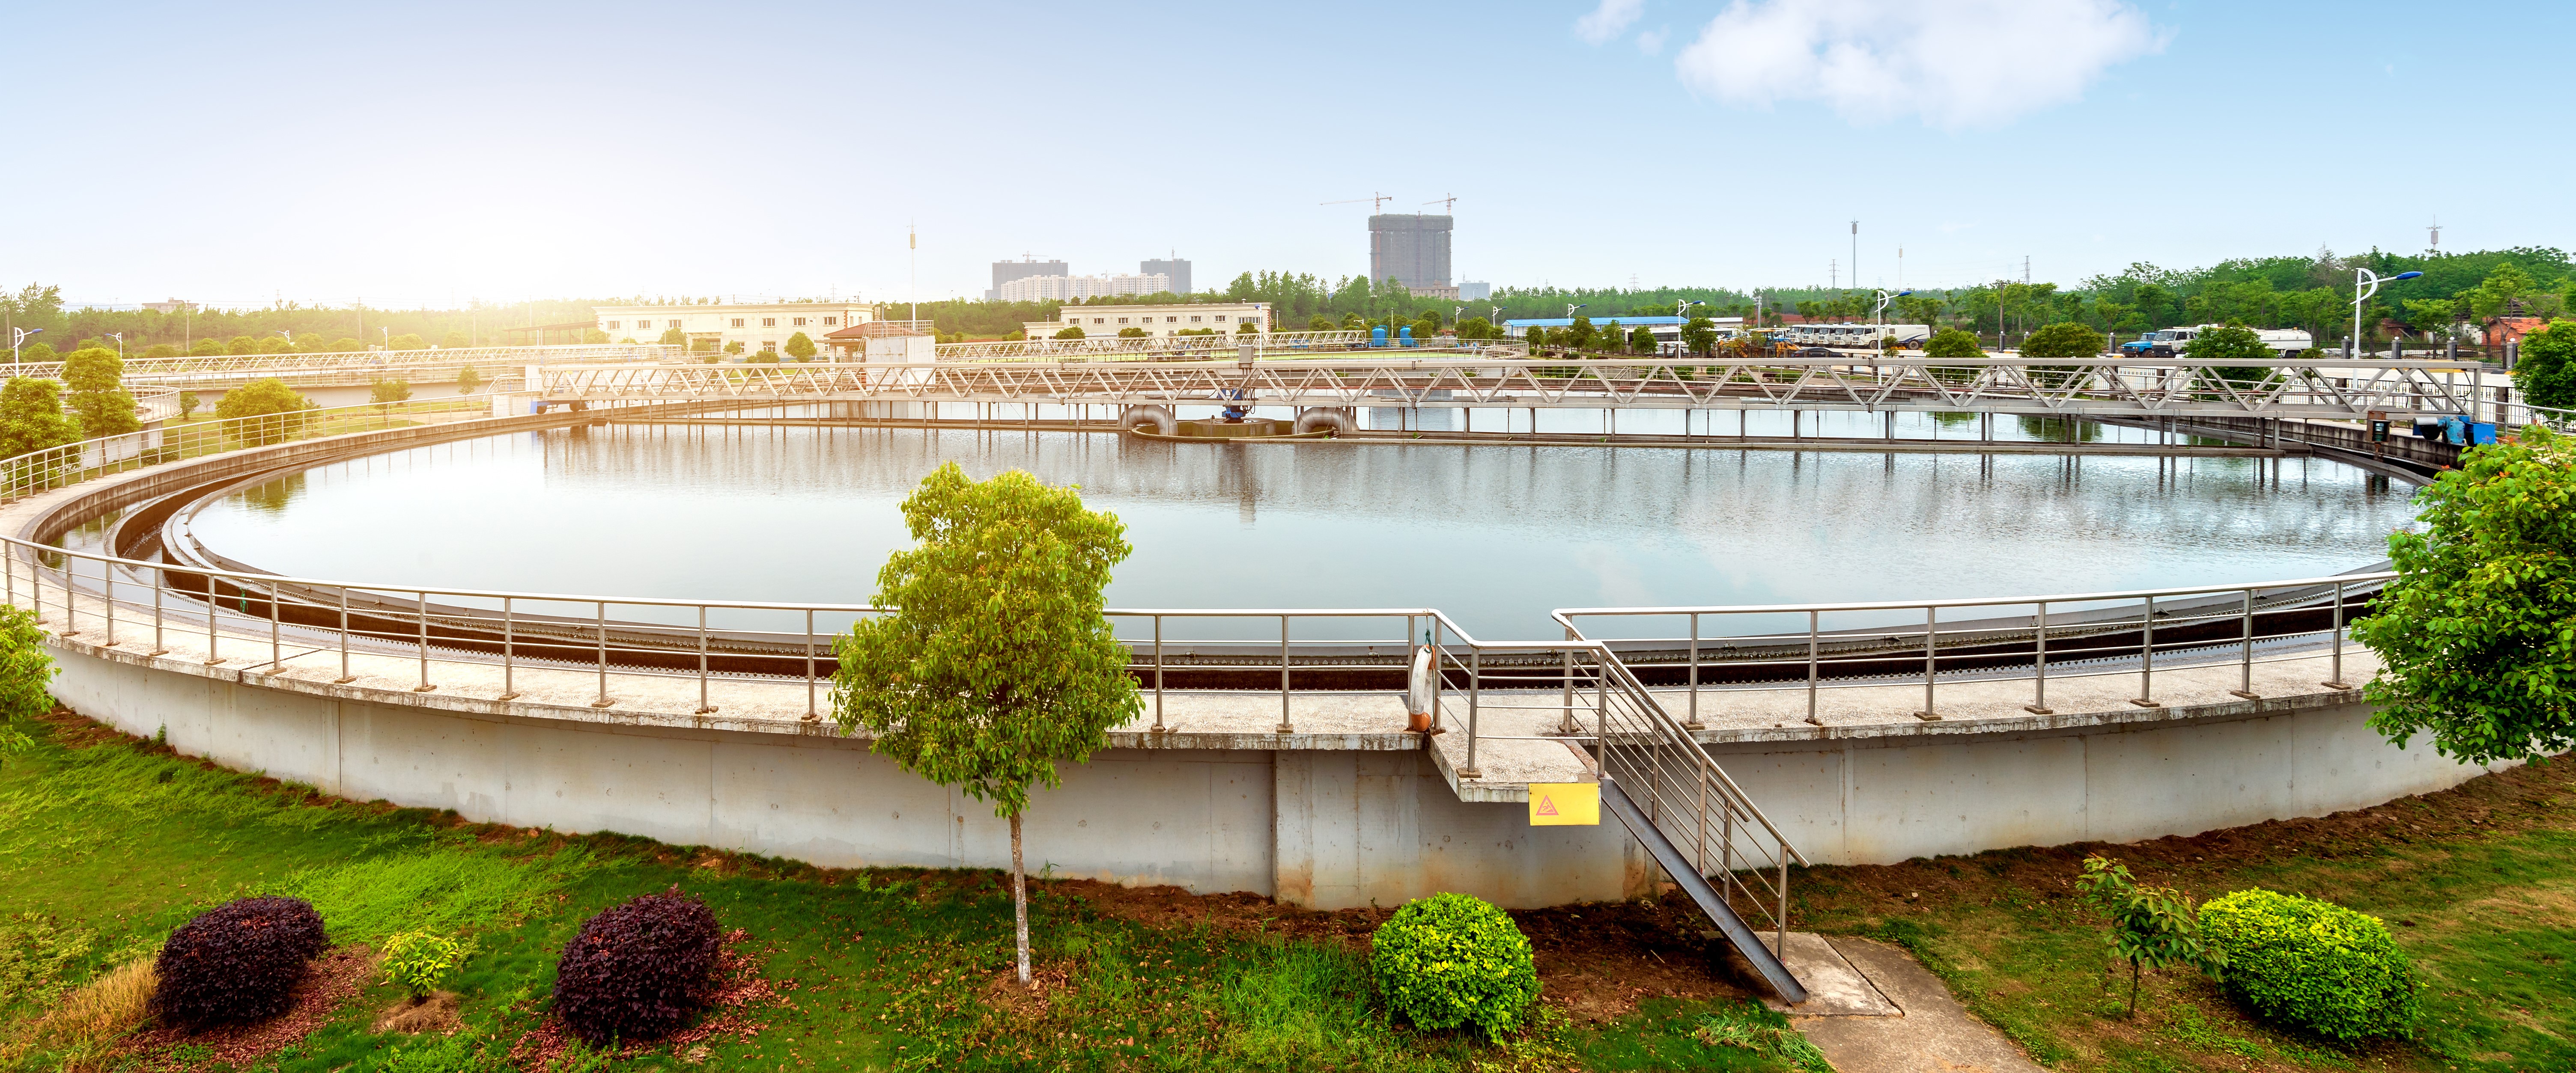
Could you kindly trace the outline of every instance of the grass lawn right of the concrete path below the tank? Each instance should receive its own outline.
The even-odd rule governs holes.
[[[1968,1009],[2066,1070],[2576,1068],[2576,769],[2566,759],[2360,813],[2130,847],[1814,870],[1798,921],[1914,949]],[[2424,980],[2414,1042],[2336,1050],[2241,1016],[2187,970],[2128,1019],[2071,885],[2087,852],[2205,901],[2272,888],[2388,921]]]

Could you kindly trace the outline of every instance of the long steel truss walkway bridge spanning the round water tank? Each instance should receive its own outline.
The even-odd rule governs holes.
[[[2514,417],[2476,365],[2300,358],[2262,368],[2102,358],[1528,358],[1502,350],[1278,350],[1200,360],[582,363],[528,368],[554,401],[914,401],[1185,407],[1819,409],[2035,417]],[[1249,360],[1247,360],[1249,358]]]

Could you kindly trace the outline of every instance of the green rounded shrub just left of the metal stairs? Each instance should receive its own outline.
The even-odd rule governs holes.
[[[1368,970],[1386,1006],[1425,1029],[1473,1024],[1494,1040],[1538,1001],[1530,939],[1512,916],[1463,893],[1404,903],[1368,939]]]

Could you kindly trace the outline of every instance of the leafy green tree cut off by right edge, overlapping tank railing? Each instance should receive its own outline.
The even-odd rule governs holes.
[[[2527,425],[2416,491],[2398,579],[2352,636],[2380,654],[2370,726],[2463,764],[2576,746],[2576,440]]]

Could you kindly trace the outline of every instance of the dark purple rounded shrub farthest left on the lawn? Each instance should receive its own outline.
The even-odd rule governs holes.
[[[242,898],[170,931],[152,970],[152,1016],[180,1029],[283,1014],[314,955],[330,949],[304,898]]]

